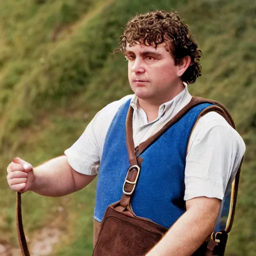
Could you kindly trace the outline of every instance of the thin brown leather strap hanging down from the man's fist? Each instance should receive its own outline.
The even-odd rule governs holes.
[[[29,256],[29,251],[26,244],[26,238],[23,230],[22,215],[21,215],[21,193],[16,193],[16,224],[18,242],[21,249],[22,256]]]

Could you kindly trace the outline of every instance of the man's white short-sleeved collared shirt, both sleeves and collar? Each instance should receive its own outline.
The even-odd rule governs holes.
[[[102,108],[76,142],[65,150],[70,166],[77,172],[97,173],[109,125],[119,107],[129,98],[133,111],[134,145],[157,132],[191,99],[187,86],[173,99],[160,105],[157,118],[148,123],[135,95],[127,95]],[[241,136],[216,112],[203,115],[188,141],[185,164],[184,200],[197,196],[223,199],[234,179],[245,144]]]

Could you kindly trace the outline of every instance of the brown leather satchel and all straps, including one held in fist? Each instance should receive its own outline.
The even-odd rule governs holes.
[[[174,122],[179,120],[189,109],[203,102],[212,102],[214,105],[205,108],[200,113],[198,118],[209,111],[216,111],[221,114],[232,127],[235,127],[229,112],[218,102],[199,97],[192,97],[191,101],[184,108],[182,108],[178,114],[176,114],[153,136],[149,137],[149,139],[147,139],[145,142],[139,144],[135,150],[132,139],[133,109],[131,107],[129,108],[126,117],[126,145],[130,168],[127,171],[123,184],[123,195],[121,199],[109,205],[105,211],[98,238],[93,250],[94,256],[142,256],[145,255],[146,252],[149,251],[165,234],[167,228],[158,225],[150,219],[136,216],[130,207],[130,196],[135,189],[141,163],[140,157],[136,157],[136,154],[139,155],[142,151],[144,151]],[[226,228],[224,230],[219,230],[216,235],[212,235],[211,238],[208,238],[192,254],[193,256],[224,255],[227,232],[230,231],[233,222],[239,173],[240,167],[232,184],[230,209]],[[23,256],[29,256],[22,226],[21,197],[19,192],[17,192],[16,199],[16,216],[21,252]],[[213,239],[215,239],[215,241]]]

